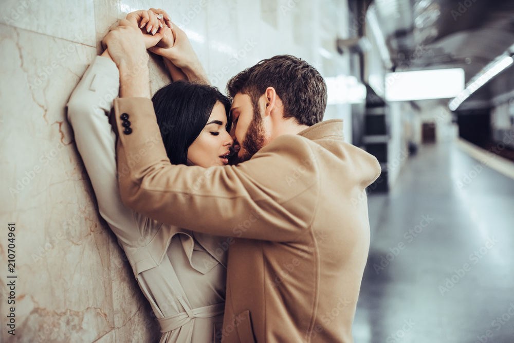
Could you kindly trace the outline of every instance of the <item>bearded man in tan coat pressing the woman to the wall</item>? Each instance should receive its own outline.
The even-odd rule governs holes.
[[[369,249],[365,187],[380,166],[344,142],[342,120],[321,122],[326,85],[318,71],[276,56],[236,75],[228,85],[231,134],[242,162],[174,166],[150,100],[142,33],[121,24],[104,39],[120,69],[112,121],[121,198],[157,221],[229,237],[220,247],[229,257],[218,338],[353,341]],[[180,44],[183,32],[174,30]],[[198,69],[188,60],[196,61],[177,63],[185,74]]]

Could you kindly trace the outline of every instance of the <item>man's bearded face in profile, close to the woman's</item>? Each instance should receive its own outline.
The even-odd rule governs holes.
[[[237,162],[250,159],[267,143],[260,106],[254,108],[247,94],[237,93],[232,102],[233,126],[230,135],[234,139],[234,148],[240,150]]]

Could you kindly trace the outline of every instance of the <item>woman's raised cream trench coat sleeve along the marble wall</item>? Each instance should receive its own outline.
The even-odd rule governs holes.
[[[106,116],[118,91],[116,64],[97,56],[71,94],[66,105],[67,117],[93,185],[100,215],[125,245],[139,246],[142,242],[137,239],[139,227],[135,213],[121,201],[116,177],[116,136]]]

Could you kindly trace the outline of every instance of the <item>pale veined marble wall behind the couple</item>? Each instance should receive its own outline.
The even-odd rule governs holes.
[[[324,76],[347,74],[337,0],[2,0],[0,2],[0,341],[156,342],[160,332],[95,195],[64,105],[101,39],[126,13],[167,10],[184,29],[211,82],[289,53]],[[321,50],[322,49],[322,50]],[[151,89],[169,79],[151,58]],[[348,106],[326,118],[349,120]],[[351,123],[346,122],[347,132]],[[8,272],[15,223],[15,272]],[[11,245],[12,247],[12,245]],[[7,278],[16,275],[17,278]],[[15,281],[15,295],[9,283]],[[15,304],[8,304],[13,298]],[[15,307],[15,335],[7,326]]]

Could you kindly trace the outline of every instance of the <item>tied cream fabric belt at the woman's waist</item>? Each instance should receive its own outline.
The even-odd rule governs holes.
[[[186,310],[186,312],[181,312],[171,317],[166,317],[162,319],[157,318],[161,326],[162,333],[178,329],[194,318],[211,318],[223,314],[223,312],[225,311],[225,303],[219,303],[209,306],[203,306],[197,309],[191,309],[182,297],[178,297],[177,299],[183,306],[184,310]]]

